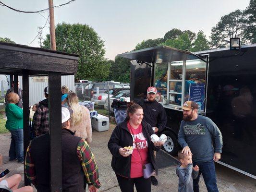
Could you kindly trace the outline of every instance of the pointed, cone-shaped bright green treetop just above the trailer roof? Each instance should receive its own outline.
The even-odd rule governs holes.
[[[209,41],[207,40],[206,35],[203,31],[199,31],[196,35],[195,42],[193,43],[193,47],[190,51],[203,51],[208,50],[209,48]]]

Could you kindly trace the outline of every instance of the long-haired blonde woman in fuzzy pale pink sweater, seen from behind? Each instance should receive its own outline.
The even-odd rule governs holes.
[[[78,97],[73,92],[68,94],[66,101],[73,110],[70,130],[75,132],[75,136],[83,137],[87,143],[91,143],[92,125],[89,110],[85,106],[79,105]]]

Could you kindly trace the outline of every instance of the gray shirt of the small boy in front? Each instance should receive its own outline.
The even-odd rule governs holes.
[[[179,177],[178,192],[193,192],[193,179],[198,176],[198,171],[193,170],[193,165],[188,164],[187,168],[176,168],[176,174]]]

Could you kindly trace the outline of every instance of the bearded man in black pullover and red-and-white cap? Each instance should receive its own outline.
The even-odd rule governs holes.
[[[143,108],[144,118],[148,124],[154,128],[154,132],[157,134],[164,130],[167,123],[167,116],[163,106],[156,101],[157,88],[148,87],[147,88],[147,98],[140,100],[138,104]],[[155,156],[156,156],[156,152]],[[158,185],[158,180],[156,177],[151,177],[151,182],[153,185]]]

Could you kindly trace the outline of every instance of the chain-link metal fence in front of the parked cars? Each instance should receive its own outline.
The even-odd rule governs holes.
[[[76,83],[75,92],[79,101],[93,102],[94,110],[108,115],[110,119],[114,114],[111,108],[114,99],[130,101],[130,85],[124,83]]]

